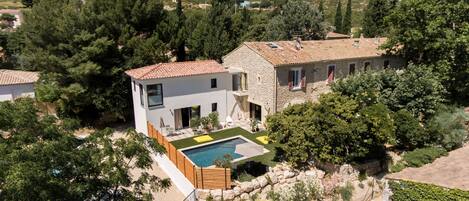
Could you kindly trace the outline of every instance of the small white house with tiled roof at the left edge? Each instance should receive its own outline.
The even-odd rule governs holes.
[[[39,73],[0,69],[0,101],[19,97],[34,97],[34,85]]]

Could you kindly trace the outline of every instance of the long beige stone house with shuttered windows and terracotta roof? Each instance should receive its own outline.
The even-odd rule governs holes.
[[[360,71],[400,67],[386,56],[386,38],[245,42],[223,58],[232,74],[239,113],[233,120],[265,117],[291,104],[315,101],[329,84]]]

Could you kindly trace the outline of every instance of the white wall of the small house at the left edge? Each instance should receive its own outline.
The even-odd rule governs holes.
[[[0,86],[0,101],[14,100],[19,97],[34,97],[34,84]]]

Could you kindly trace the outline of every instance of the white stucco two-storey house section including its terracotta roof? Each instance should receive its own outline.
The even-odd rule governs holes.
[[[188,128],[193,117],[227,117],[234,99],[231,75],[214,60],[160,63],[126,71],[131,77],[135,127],[147,132]],[[231,105],[231,106],[230,106]]]

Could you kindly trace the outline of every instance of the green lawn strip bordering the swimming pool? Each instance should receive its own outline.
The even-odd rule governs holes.
[[[248,158],[246,160],[238,161],[238,162],[236,162],[235,165],[239,166],[239,165],[242,165],[246,162],[254,161],[254,162],[259,162],[259,163],[262,163],[264,165],[272,167],[277,163],[277,161],[275,161],[275,153],[276,153],[275,147],[277,147],[278,144],[277,143],[270,143],[270,144],[265,145],[265,144],[262,144],[261,142],[259,142],[258,140],[256,140],[256,137],[267,135],[267,132],[265,132],[265,131],[261,131],[261,132],[258,132],[258,133],[249,133],[248,131],[238,127],[238,128],[226,129],[226,130],[222,130],[222,131],[214,132],[214,133],[210,134],[210,136],[213,138],[213,140],[229,138],[229,137],[233,137],[233,136],[236,136],[236,135],[242,135],[242,136],[246,137],[247,139],[249,139],[249,140],[251,140],[251,141],[253,141],[257,144],[260,144],[260,145],[264,146],[270,152],[268,152],[264,155],[261,155],[261,156],[256,156],[256,157]],[[198,145],[198,144],[204,144],[204,143],[210,143],[210,142],[198,143],[193,138],[186,138],[186,139],[182,139],[182,140],[172,141],[171,143],[177,149],[182,149],[182,148],[185,148],[185,147],[190,147],[190,146],[194,146],[194,145]]]

